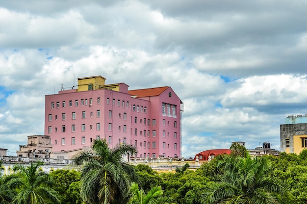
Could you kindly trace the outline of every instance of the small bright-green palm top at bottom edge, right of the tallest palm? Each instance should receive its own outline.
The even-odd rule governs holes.
[[[171,204],[171,199],[162,196],[160,186],[152,187],[147,194],[135,182],[131,185],[131,199],[128,204]]]

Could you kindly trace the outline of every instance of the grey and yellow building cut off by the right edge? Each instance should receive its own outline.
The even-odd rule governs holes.
[[[280,130],[281,152],[300,154],[307,148],[307,115],[289,115]]]

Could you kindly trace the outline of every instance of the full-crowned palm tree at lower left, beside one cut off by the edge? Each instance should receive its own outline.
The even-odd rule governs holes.
[[[13,167],[16,178],[10,181],[10,188],[15,189],[17,194],[11,204],[60,203],[57,192],[51,188],[54,183],[52,178],[39,170],[42,165],[43,162],[34,162],[28,167],[22,164]]]

